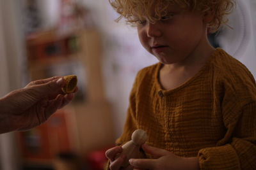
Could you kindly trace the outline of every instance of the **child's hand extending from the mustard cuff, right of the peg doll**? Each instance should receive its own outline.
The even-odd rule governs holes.
[[[156,159],[130,159],[134,169],[200,169],[198,157],[179,157],[172,152],[148,145],[142,145],[143,150]]]

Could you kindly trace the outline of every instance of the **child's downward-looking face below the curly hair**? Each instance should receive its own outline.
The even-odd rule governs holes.
[[[168,18],[168,19],[167,19]],[[138,22],[141,44],[163,64],[181,62],[196,50],[204,48],[206,24],[203,16],[170,6],[169,15],[155,23]]]

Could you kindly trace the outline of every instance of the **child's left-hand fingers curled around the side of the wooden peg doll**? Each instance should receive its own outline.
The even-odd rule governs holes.
[[[121,146],[115,146],[106,151],[106,157],[109,159],[109,168],[111,170],[124,169],[121,167],[122,163],[125,160],[125,155],[120,155],[122,153],[123,148]],[[120,157],[118,157],[120,155]],[[132,169],[132,166],[128,166],[125,170]]]

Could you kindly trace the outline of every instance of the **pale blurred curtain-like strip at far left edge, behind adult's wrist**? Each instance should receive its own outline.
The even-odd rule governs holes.
[[[0,1],[0,97],[21,87],[24,46],[19,5],[20,1]],[[1,169],[18,168],[19,150],[13,133],[0,135],[0,157]]]

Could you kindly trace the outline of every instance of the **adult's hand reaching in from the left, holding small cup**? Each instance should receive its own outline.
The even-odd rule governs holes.
[[[63,77],[55,76],[31,81],[24,89],[4,96],[0,99],[0,132],[31,129],[44,123],[72,101],[74,93],[63,94],[64,85]]]

